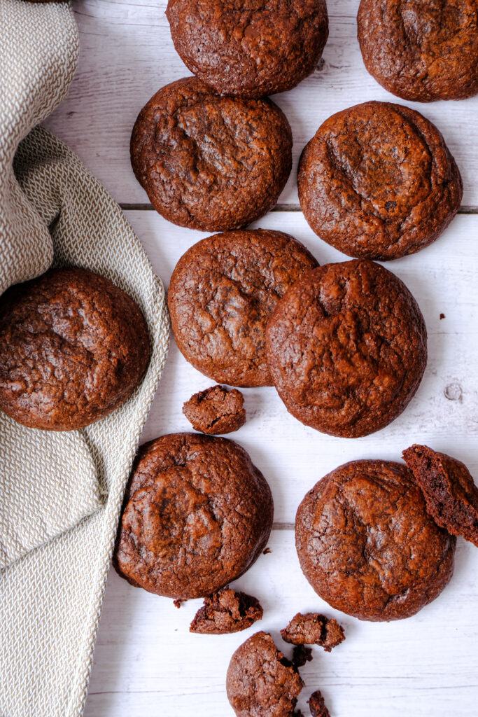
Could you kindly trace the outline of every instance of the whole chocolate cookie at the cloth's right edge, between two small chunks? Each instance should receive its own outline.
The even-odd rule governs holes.
[[[173,433],[143,445],[120,521],[115,566],[165,597],[206,597],[264,550],[272,495],[247,452],[226,438]]]

